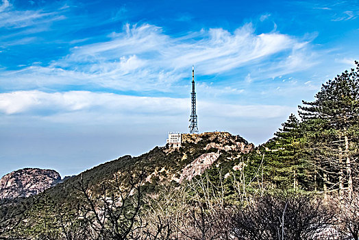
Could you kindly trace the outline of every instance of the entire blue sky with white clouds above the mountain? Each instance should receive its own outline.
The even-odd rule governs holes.
[[[1,0],[0,0],[1,1]],[[0,3],[0,176],[62,177],[188,132],[259,145],[359,60],[359,1]]]

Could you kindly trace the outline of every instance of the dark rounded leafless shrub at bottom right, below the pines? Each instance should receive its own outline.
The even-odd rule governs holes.
[[[263,195],[238,208],[233,218],[237,239],[328,239],[334,211],[309,195]]]

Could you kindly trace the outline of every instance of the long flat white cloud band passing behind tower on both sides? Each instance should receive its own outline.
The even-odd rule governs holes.
[[[45,93],[42,91],[16,91],[0,93],[0,112],[5,115],[23,114],[53,116],[53,121],[73,121],[71,115],[81,112],[103,119],[103,115],[118,118],[128,117],[166,117],[188,115],[189,98],[135,97],[113,93],[92,93],[88,91],[69,91],[64,93]],[[260,118],[282,117],[292,110],[286,106],[219,104],[211,101],[199,101],[198,110],[203,118]],[[117,116],[117,117],[116,117]],[[91,118],[91,121],[93,119]]]

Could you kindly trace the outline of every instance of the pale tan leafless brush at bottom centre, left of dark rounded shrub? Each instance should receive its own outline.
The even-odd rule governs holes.
[[[151,196],[146,219],[169,223],[166,239],[229,239],[232,208],[227,208],[221,182],[213,184],[208,176],[187,182],[181,187],[166,187]],[[149,221],[149,228],[151,221]]]

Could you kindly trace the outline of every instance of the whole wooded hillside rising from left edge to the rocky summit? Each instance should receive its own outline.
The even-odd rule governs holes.
[[[146,195],[160,193],[166,186],[177,188],[211,169],[221,169],[224,176],[238,164],[241,156],[253,150],[252,143],[228,132],[182,134],[179,148],[165,145],[155,147],[141,156],[122,156],[68,178],[34,198],[0,202],[0,230],[2,228],[5,232],[9,232],[19,224],[15,228],[16,233],[13,234],[27,237],[29,233],[25,232],[28,230],[38,229],[47,232],[43,224],[45,219],[49,224],[64,221],[64,214],[69,214],[70,216],[67,217],[72,219],[79,206],[86,206],[88,200],[108,201],[108,196],[111,194],[113,206],[117,206],[116,204],[121,206],[123,201],[132,202],[131,199],[136,197],[134,193],[137,192],[141,196],[142,208],[142,198]],[[217,170],[215,171],[218,173]],[[101,206],[101,203],[99,204]],[[97,210],[93,209],[93,211]],[[102,215],[103,212],[99,211]],[[41,233],[33,232],[30,235],[40,236]]]

